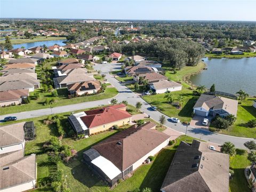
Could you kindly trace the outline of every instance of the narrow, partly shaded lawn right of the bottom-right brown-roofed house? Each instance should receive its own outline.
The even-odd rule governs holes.
[[[234,177],[229,181],[229,189],[231,192],[246,192],[251,191],[247,186],[248,182],[244,175],[245,167],[249,166],[251,163],[247,159],[247,153],[245,150],[236,149],[236,155],[230,157],[230,169],[234,171]]]

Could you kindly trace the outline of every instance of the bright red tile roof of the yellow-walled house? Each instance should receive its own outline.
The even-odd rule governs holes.
[[[81,119],[88,128],[92,128],[132,117],[127,111],[120,110],[124,107],[126,107],[124,104],[120,104],[85,111],[86,116],[81,117]]]

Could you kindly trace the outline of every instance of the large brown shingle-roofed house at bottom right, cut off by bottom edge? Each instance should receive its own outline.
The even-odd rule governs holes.
[[[206,142],[181,141],[161,187],[163,192],[228,192],[229,155]]]

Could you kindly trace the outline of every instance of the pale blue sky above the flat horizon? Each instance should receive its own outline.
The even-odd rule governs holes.
[[[1,18],[256,21],[256,0],[0,0]]]

